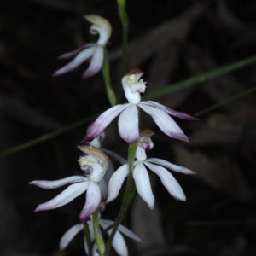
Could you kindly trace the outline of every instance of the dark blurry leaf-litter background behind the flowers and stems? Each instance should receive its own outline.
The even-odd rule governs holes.
[[[128,1],[128,67],[140,67],[153,92],[189,76],[255,55],[256,3],[241,0]],[[121,79],[121,25],[115,1],[0,1],[0,149],[55,131],[108,108],[102,74],[82,81],[87,64],[60,78],[52,73],[66,62],[57,56],[96,41],[83,15],[97,14],[113,26],[108,44],[115,89]],[[128,71],[128,70],[127,70]],[[255,86],[256,65],[242,68],[157,101],[190,114]],[[152,175],[156,207],[136,200],[125,224],[145,241],[129,244],[131,255],[255,255],[255,95],[201,114],[199,122],[177,120],[191,143],[164,136],[150,119],[142,128],[156,132],[150,156],[198,173],[176,175],[186,203],[168,195]],[[148,120],[148,123],[145,121]],[[0,254],[83,255],[82,235],[64,252],[61,235],[78,223],[84,197],[54,211],[33,210],[60,190],[30,187],[33,179],[59,179],[78,172],[76,145],[81,125],[0,161]],[[114,149],[115,125],[105,148]],[[122,148],[123,147],[123,148]],[[125,157],[126,145],[119,153]],[[102,217],[114,219],[119,200]]]

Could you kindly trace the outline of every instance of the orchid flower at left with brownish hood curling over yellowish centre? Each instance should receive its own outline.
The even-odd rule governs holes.
[[[84,222],[100,207],[102,198],[106,198],[106,193],[102,192],[104,189],[101,189],[100,182],[108,169],[108,157],[100,149],[91,146],[84,146],[83,152],[87,154],[79,159],[81,170],[84,171],[83,175],[65,177],[55,181],[34,180],[30,183],[42,189],[55,189],[70,184],[61,194],[40,204],[35,212],[62,207],[85,191],[86,201],[79,215],[80,221]]]

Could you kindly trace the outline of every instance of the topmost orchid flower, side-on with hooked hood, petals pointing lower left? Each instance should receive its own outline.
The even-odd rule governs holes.
[[[72,52],[60,55],[60,60],[66,60],[73,58],[73,61],[69,62],[66,66],[61,67],[54,73],[54,76],[59,76],[64,73],[68,73],[79,67],[84,61],[90,60],[90,65],[83,73],[82,78],[89,78],[98,73],[102,68],[104,59],[104,47],[108,43],[108,39],[111,36],[112,28],[108,20],[98,15],[84,15],[84,18],[92,23],[90,27],[91,34],[98,34],[98,41],[95,43],[85,44],[84,46],[76,49]]]

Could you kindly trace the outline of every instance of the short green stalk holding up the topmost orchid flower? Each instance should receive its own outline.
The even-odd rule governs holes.
[[[108,102],[110,103],[111,106],[114,106],[116,104],[116,96],[115,96],[115,94],[113,92],[113,88],[111,86],[107,49],[104,49],[104,61],[103,61],[102,73],[103,73],[103,78],[105,81]]]

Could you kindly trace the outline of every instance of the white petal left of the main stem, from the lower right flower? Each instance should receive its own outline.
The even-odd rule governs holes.
[[[128,175],[128,165],[125,164],[124,166],[120,166],[115,172],[113,172],[112,177],[108,183],[108,198],[107,203],[109,201],[113,201],[118,195],[119,190],[124,183],[125,177]]]

